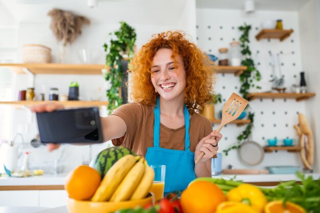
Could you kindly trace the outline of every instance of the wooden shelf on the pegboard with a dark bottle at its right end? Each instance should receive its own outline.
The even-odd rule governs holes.
[[[249,101],[254,99],[295,99],[302,101],[314,97],[315,93],[281,93],[281,92],[260,92],[249,93],[247,98]]]

